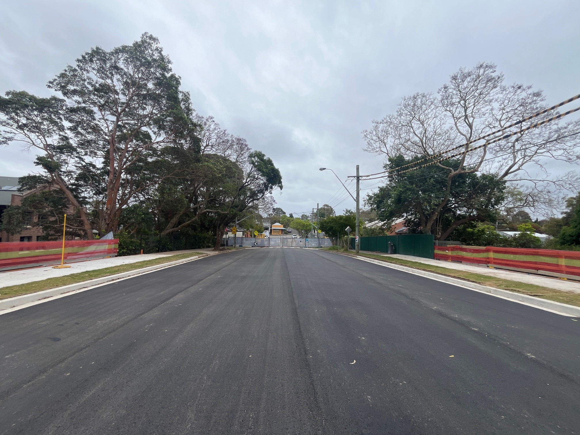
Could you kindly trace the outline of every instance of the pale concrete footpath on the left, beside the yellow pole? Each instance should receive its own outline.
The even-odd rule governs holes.
[[[26,284],[27,282],[42,281],[47,278],[56,278],[70,275],[73,273],[86,272],[89,270],[105,269],[106,267],[121,266],[153,260],[155,258],[168,257],[189,252],[211,253],[212,248],[188,249],[187,251],[169,251],[161,253],[143,254],[143,255],[126,255],[122,257],[101,258],[98,260],[88,260],[77,263],[66,263],[71,266],[69,269],[53,269],[52,266],[33,267],[31,269],[9,270],[0,273],[0,288],[10,285]]]

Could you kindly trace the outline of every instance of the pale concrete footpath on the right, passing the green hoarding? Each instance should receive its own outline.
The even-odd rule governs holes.
[[[463,270],[466,272],[478,273],[490,277],[502,278],[503,280],[524,282],[525,284],[541,285],[542,287],[553,288],[564,292],[580,293],[580,282],[571,280],[560,280],[559,278],[550,278],[546,276],[536,275],[533,273],[523,273],[504,269],[492,269],[486,266],[476,266],[475,264],[445,262],[441,260],[434,260],[430,258],[415,257],[412,255],[401,254],[386,254],[379,252],[361,251],[362,253],[369,253],[373,255],[382,255],[385,257],[395,257],[412,262],[431,264],[432,266],[445,267],[446,269]]]

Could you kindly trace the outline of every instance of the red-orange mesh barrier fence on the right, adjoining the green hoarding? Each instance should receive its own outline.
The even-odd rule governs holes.
[[[436,246],[435,259],[580,279],[580,252],[554,249]]]

